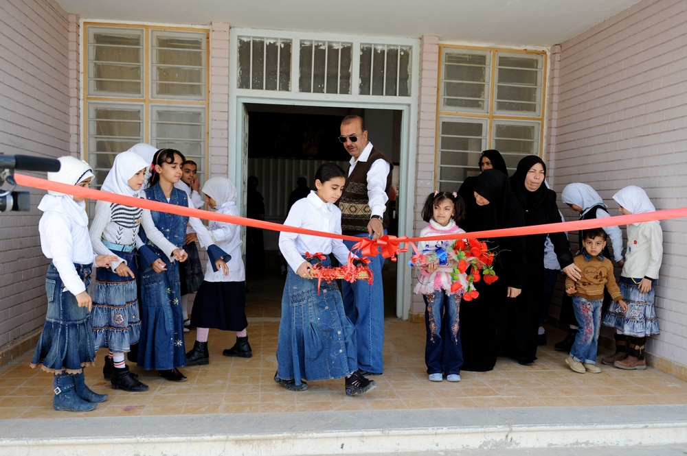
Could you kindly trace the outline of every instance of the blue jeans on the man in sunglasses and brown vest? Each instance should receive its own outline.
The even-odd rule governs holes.
[[[387,231],[384,230],[384,234]],[[356,237],[367,237],[361,233]],[[343,241],[349,249],[354,241]],[[354,252],[355,253],[355,252]],[[355,338],[358,351],[358,368],[373,374],[384,370],[382,349],[384,345],[384,288],[382,286],[382,266],[384,257],[381,254],[370,258],[370,270],[373,274],[372,285],[365,280],[348,283],[343,280],[343,309],[346,316],[355,326]]]

